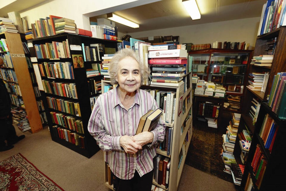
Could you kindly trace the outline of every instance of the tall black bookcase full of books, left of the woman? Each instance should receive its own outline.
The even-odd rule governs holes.
[[[63,43],[64,55],[61,55],[63,52],[58,54],[61,56],[55,56],[56,53],[52,53],[53,50],[59,50],[57,46],[56,49],[47,48],[49,43],[55,42],[59,44],[59,47],[60,43]],[[91,115],[90,98],[95,96],[91,94],[88,80],[93,78],[100,81],[101,76],[87,78],[86,69],[93,68],[93,64],[100,66],[101,61],[84,61],[84,67],[74,68],[72,58],[73,55],[84,57],[83,46],[102,44],[102,47],[115,49],[116,41],[61,33],[31,39],[28,43],[32,43],[29,44],[32,63],[37,64],[40,70],[37,78],[43,82],[41,95],[52,140],[90,158],[100,148],[87,130]],[[37,51],[41,51],[43,55],[46,53],[46,55],[42,57],[43,55]],[[104,48],[102,53],[104,53]]]

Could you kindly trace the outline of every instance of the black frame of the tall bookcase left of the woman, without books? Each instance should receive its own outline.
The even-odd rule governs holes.
[[[32,40],[29,40],[28,42],[35,45],[35,44],[52,43],[53,41],[68,42],[68,50],[66,51],[67,51],[67,54],[68,52],[70,53],[70,57],[67,56],[66,58],[37,58],[35,59],[37,50],[35,50],[34,47],[30,47],[31,57],[32,57],[32,60],[34,61],[33,64],[42,64],[44,62],[47,62],[47,63],[70,62],[71,63],[70,75],[73,75],[74,79],[53,78],[53,77],[47,77],[47,75],[41,75],[38,77],[40,77],[41,80],[47,81],[48,83],[52,83],[54,81],[55,83],[60,83],[60,84],[64,84],[64,83],[72,84],[71,89],[75,89],[74,87],[76,87],[76,91],[74,90],[73,92],[74,92],[74,95],[77,95],[77,98],[73,96],[72,97],[60,96],[60,95],[56,95],[55,93],[51,94],[51,93],[46,93],[45,91],[41,91],[51,138],[53,141],[59,144],[62,144],[63,146],[71,150],[74,150],[75,152],[81,155],[84,155],[87,158],[90,158],[98,150],[100,150],[100,148],[97,146],[96,141],[89,134],[87,130],[88,120],[91,115],[91,103],[90,103],[91,96],[90,96],[90,89],[88,86],[89,78],[86,76],[86,69],[91,69],[92,64],[94,63],[98,64],[98,63],[101,63],[101,61],[84,61],[84,67],[74,68],[74,65],[72,64],[73,63],[72,55],[84,56],[83,48],[82,48],[83,44],[84,46],[90,46],[90,44],[99,43],[99,44],[105,45],[105,47],[116,48],[116,41],[91,38],[91,37],[81,36],[77,34],[62,33],[62,34],[58,34],[55,36],[32,39]],[[43,49],[41,49],[40,51],[43,51]],[[50,69],[53,70],[52,68]],[[95,76],[95,77],[90,77],[90,78],[96,78],[97,81],[101,80],[101,76]],[[45,84],[43,85],[45,86]],[[46,97],[50,97],[52,99],[60,99],[60,100],[68,101],[71,103],[74,103],[74,102],[78,103],[81,115],[78,116],[78,115],[74,115],[71,113],[65,113],[63,112],[62,109],[56,110],[55,108],[49,108],[48,100]],[[76,128],[69,128],[72,126],[71,124],[69,127],[65,127],[64,125],[54,123],[55,121],[53,121],[53,116],[51,115],[51,112],[56,112],[58,113],[58,115],[64,116],[63,119],[60,119],[62,121],[67,120],[67,119],[64,119],[65,116],[70,116],[74,118],[74,120],[82,121],[83,132],[81,132],[80,130]],[[62,124],[64,123],[65,122],[63,122]],[[60,130],[60,132],[58,130]],[[61,136],[61,131],[63,131],[64,133],[67,132],[66,134],[67,136],[66,135]],[[73,136],[79,136],[81,138],[79,139],[81,142],[80,143],[74,142]]]

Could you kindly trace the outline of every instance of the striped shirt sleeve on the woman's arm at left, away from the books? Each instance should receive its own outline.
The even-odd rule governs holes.
[[[122,150],[119,144],[119,139],[121,136],[112,136],[106,132],[100,104],[101,102],[99,97],[94,104],[94,108],[88,121],[88,131],[97,141],[97,144],[101,150]]]

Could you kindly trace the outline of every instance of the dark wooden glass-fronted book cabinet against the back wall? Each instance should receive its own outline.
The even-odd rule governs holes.
[[[209,48],[189,51],[192,56],[192,73],[205,81],[221,84],[226,88],[226,102],[230,106],[227,110],[241,112],[241,101],[234,102],[234,98],[243,100],[248,79],[249,62],[252,50],[234,50]]]

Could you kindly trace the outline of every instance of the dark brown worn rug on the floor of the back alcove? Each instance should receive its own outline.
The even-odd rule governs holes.
[[[185,164],[203,172],[215,175],[223,180],[233,182],[232,176],[223,172],[222,152],[223,138],[226,132],[226,121],[223,119],[218,129],[208,127],[207,122],[194,121],[193,135]]]

